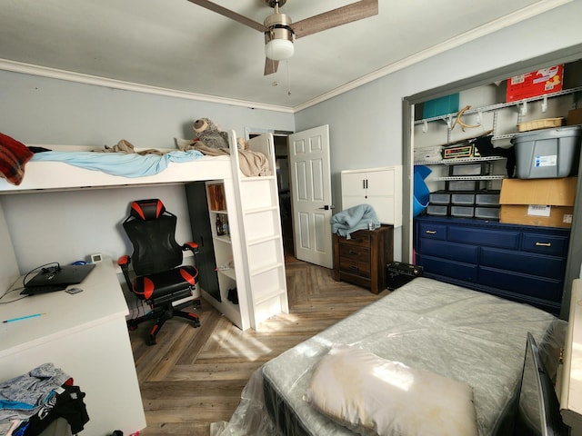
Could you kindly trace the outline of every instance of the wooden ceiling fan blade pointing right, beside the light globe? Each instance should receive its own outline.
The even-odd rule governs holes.
[[[295,32],[295,37],[301,38],[373,15],[378,15],[378,0],[361,0],[351,5],[338,7],[323,14],[298,21],[291,25],[291,28]]]

